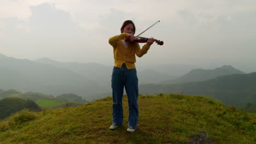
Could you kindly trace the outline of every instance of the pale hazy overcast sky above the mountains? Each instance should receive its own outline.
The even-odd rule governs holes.
[[[137,64],[231,64],[256,71],[255,0],[0,0],[0,53],[34,60],[113,64],[108,39],[133,20],[152,45]],[[136,35],[135,34],[135,35]],[[143,44],[141,44],[143,46]]]

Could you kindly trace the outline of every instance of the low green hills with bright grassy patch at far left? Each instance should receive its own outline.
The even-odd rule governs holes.
[[[86,103],[85,99],[69,93],[57,97],[42,93],[20,93],[14,89],[3,91],[0,89],[0,119],[6,118],[23,109],[42,110],[57,109],[58,107],[77,106]]]

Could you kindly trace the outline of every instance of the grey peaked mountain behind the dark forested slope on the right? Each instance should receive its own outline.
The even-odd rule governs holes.
[[[184,83],[184,82],[196,82],[196,81],[205,81],[214,79],[218,76],[231,75],[231,74],[245,74],[241,70],[237,70],[231,65],[223,65],[220,68],[213,70],[203,70],[203,69],[193,69],[189,73],[174,79],[163,81],[163,84],[172,84],[172,83]]]

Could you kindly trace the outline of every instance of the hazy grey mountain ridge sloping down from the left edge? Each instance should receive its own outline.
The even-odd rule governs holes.
[[[0,55],[0,87],[20,92],[39,92],[49,95],[78,94],[88,100],[104,89],[88,77],[72,70]]]

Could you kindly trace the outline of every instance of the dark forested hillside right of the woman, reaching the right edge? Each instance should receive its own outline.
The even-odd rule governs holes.
[[[219,76],[216,79],[171,85],[139,85],[139,93],[182,93],[204,95],[226,105],[256,104],[256,73]]]

